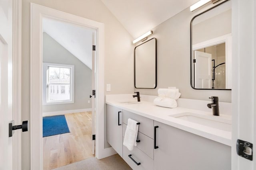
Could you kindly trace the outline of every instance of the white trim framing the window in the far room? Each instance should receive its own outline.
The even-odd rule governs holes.
[[[65,100],[65,101],[58,101],[58,102],[47,102],[47,77],[48,77],[48,66],[52,67],[66,67],[70,68],[70,96],[71,100]],[[42,69],[42,76],[43,76],[43,84],[42,84],[42,104],[43,105],[53,105],[53,104],[72,104],[74,103],[74,65],[68,65],[68,64],[55,64],[55,63],[43,63],[43,69]]]

